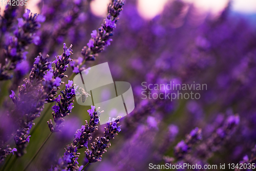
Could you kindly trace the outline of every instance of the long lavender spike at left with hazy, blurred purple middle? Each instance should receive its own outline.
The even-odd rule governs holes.
[[[29,79],[24,80],[24,84],[19,87],[18,97],[12,91],[10,98],[15,104],[12,114],[18,113],[21,118],[19,121],[19,129],[14,136],[17,145],[18,156],[23,155],[24,144],[29,142],[29,131],[34,124],[35,118],[40,116],[45,99],[47,98],[47,90],[52,89],[52,83],[44,81],[45,72],[49,68],[47,57],[37,56],[34,67],[29,75]],[[44,85],[44,86],[42,86]]]

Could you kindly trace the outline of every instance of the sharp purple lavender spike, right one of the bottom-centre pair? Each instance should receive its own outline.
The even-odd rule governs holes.
[[[91,143],[91,149],[92,151],[89,151],[89,149],[86,150],[86,158],[88,159],[89,163],[94,163],[97,161],[101,161],[102,154],[106,152],[105,148],[110,147],[110,140],[114,139],[114,137],[121,131],[119,121],[121,117],[117,117],[116,119],[113,118],[112,121],[109,120],[106,124],[107,127],[105,127],[105,132],[103,137],[99,138],[97,137],[95,140],[96,142]]]

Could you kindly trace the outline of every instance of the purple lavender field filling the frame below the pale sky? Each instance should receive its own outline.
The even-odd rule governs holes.
[[[0,36],[2,171],[83,166],[163,170],[150,169],[150,163],[231,170],[229,163],[255,164],[255,17],[233,12],[231,1],[211,15],[175,0],[146,20],[136,0],[124,5],[113,0],[102,18],[92,13],[90,3],[42,0],[39,15],[30,15],[26,6],[5,9]],[[71,80],[103,62],[109,63],[115,81],[131,83],[135,109],[97,125],[104,109],[90,110],[73,101],[77,94]],[[157,89],[160,84],[165,89]],[[168,84],[181,88],[169,90]],[[183,84],[195,88],[185,90]]]

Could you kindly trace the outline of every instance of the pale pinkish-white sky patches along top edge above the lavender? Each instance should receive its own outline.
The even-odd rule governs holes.
[[[129,0],[127,0],[129,1]],[[139,14],[146,19],[151,19],[157,14],[160,14],[167,1],[173,0],[139,0],[138,11]],[[228,0],[183,0],[189,3],[195,3],[196,7],[204,10],[211,11],[212,13],[218,13],[225,7]],[[39,13],[36,3],[39,0],[29,0],[28,9],[33,13]],[[106,15],[106,7],[109,4],[109,0],[94,0],[91,3],[92,12],[98,16]],[[1,3],[0,3],[1,5]],[[1,15],[3,14],[3,6],[1,7]],[[125,8],[125,6],[124,6]],[[256,0],[233,0],[233,10],[243,13],[256,13]]]

